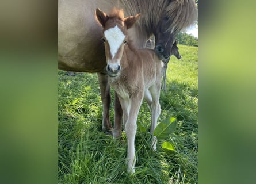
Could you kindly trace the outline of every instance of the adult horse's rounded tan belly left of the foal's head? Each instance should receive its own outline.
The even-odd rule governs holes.
[[[97,1],[59,1],[59,68],[102,72],[106,67],[102,28],[95,20]],[[109,2],[108,2],[109,3]],[[105,4],[101,3],[104,9]]]

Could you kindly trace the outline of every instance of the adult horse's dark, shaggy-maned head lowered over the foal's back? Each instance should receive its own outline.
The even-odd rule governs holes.
[[[162,6],[154,6],[151,10],[151,19],[154,22],[151,25],[155,35],[155,52],[159,59],[167,59],[171,54],[170,48],[173,45],[174,36],[193,24],[197,19],[197,8],[193,0],[158,2],[161,2]]]

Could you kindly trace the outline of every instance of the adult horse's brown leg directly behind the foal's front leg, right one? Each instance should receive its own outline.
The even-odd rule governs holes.
[[[121,136],[123,110],[117,93],[114,93],[114,139]]]

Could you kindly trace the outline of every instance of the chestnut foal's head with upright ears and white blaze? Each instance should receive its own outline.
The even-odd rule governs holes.
[[[138,20],[140,14],[124,18],[124,11],[113,9],[108,15],[96,9],[96,18],[103,27],[103,37],[106,53],[106,70],[109,76],[117,76],[121,69],[120,60],[127,44],[127,29]]]

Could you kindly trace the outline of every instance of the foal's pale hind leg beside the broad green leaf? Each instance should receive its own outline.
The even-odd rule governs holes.
[[[151,104],[151,129],[150,132],[153,135],[158,117],[161,113],[161,108],[159,104],[159,97],[160,97],[160,85],[158,83],[154,84],[149,89],[151,97],[152,97],[152,104]],[[156,137],[152,137],[152,148],[156,150]]]

